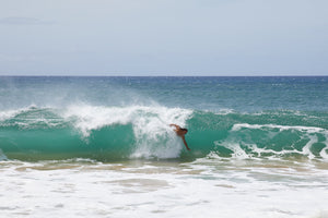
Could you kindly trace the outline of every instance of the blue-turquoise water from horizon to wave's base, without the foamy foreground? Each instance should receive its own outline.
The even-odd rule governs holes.
[[[5,159],[328,158],[328,77],[0,77]],[[168,126],[188,128],[191,152]]]

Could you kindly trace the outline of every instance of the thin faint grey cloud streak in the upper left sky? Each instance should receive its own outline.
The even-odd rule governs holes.
[[[43,21],[36,17],[25,17],[25,16],[8,16],[0,19],[0,24],[2,25],[49,25],[54,24],[52,21]]]

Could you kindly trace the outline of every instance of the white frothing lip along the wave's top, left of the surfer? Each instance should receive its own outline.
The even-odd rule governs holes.
[[[166,107],[94,107],[94,106],[70,106],[62,113],[66,120],[74,122],[74,128],[81,130],[84,136],[89,136],[90,131],[97,130],[106,125],[131,123],[136,128],[136,133],[142,130],[167,130],[169,123],[176,122],[185,124],[191,110]]]

